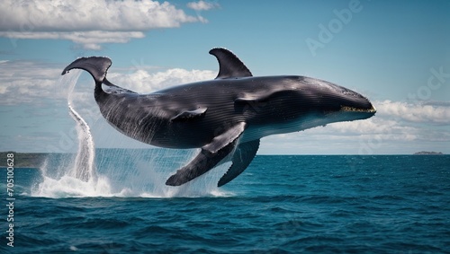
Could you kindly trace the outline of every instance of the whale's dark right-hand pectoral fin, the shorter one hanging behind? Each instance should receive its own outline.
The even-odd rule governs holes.
[[[217,186],[221,187],[229,183],[230,180],[235,179],[240,173],[245,171],[250,162],[253,161],[253,158],[255,158],[255,155],[257,155],[258,147],[259,139],[239,144],[233,154],[233,164],[231,164],[229,170],[220,178]]]

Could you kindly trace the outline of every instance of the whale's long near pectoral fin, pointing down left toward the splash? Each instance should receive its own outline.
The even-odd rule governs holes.
[[[210,144],[202,147],[202,151],[189,164],[176,171],[166,180],[166,185],[180,186],[210,171],[234,150],[245,127],[246,123],[241,122],[229,128],[220,136],[214,137]]]

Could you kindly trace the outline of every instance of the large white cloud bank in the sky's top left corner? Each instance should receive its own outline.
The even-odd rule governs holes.
[[[0,37],[68,39],[88,49],[143,38],[144,31],[152,29],[206,22],[167,2],[133,0],[5,0],[0,2],[0,17]]]

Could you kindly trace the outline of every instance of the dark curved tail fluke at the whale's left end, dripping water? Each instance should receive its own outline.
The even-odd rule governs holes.
[[[62,71],[62,75],[67,74],[71,69],[82,69],[92,75],[95,83],[101,84],[111,64],[112,61],[108,57],[80,57],[68,65]]]

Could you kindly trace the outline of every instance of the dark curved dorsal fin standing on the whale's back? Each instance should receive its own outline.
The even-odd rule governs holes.
[[[247,66],[228,49],[212,48],[210,54],[219,61],[219,74],[216,79],[252,76]]]

